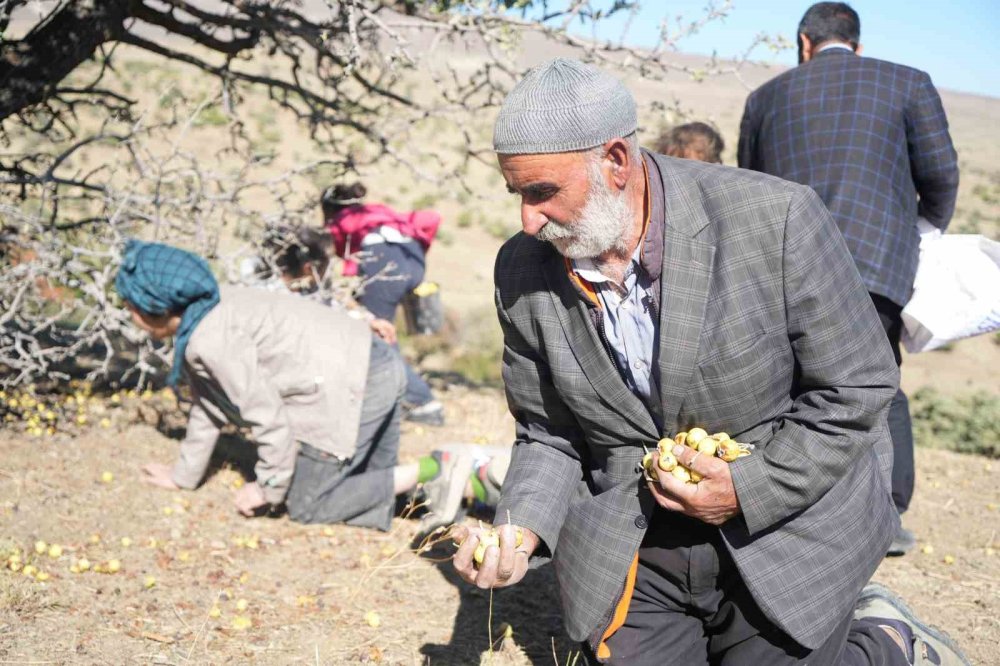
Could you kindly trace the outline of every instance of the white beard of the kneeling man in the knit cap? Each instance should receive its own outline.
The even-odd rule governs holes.
[[[625,237],[632,222],[632,206],[625,192],[608,187],[600,162],[591,162],[588,172],[590,187],[580,216],[565,224],[549,220],[535,234],[569,259],[595,259],[610,250],[628,251]]]

